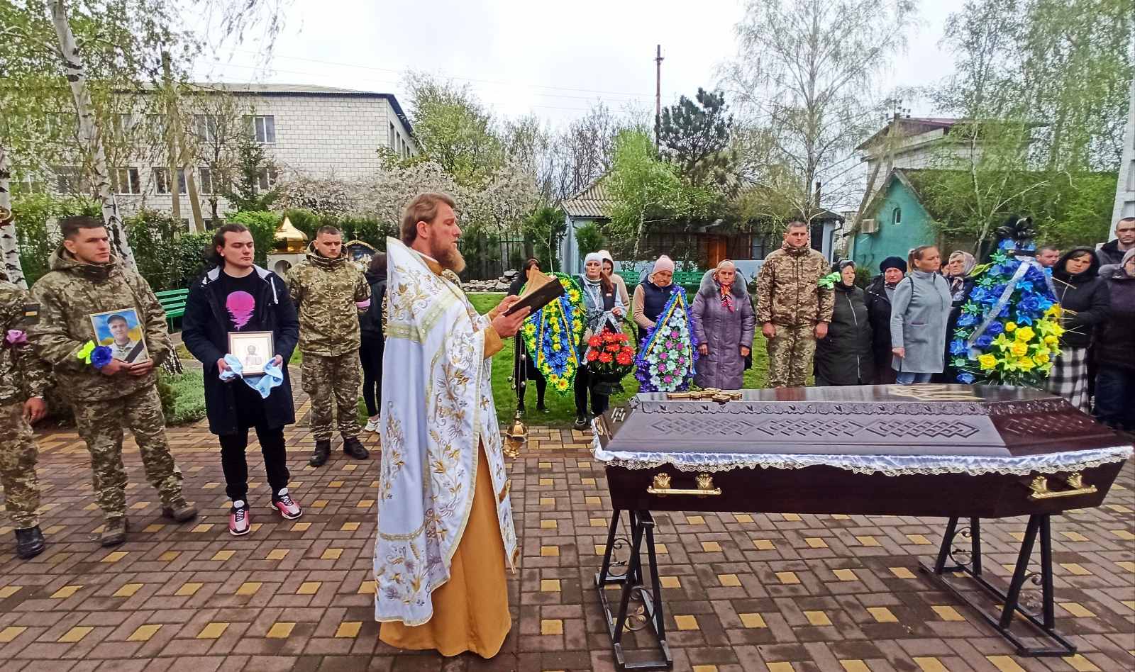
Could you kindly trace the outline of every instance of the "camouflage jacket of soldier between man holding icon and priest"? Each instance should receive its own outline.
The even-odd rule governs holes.
[[[367,311],[370,285],[358,266],[345,255],[309,251],[288,271],[287,286],[300,313],[300,352],[337,356],[359,350],[359,313]]]

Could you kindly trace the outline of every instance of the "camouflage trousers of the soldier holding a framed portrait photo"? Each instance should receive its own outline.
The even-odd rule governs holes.
[[[94,498],[108,518],[126,515],[126,467],[123,465],[123,430],[129,429],[142,453],[146,480],[170,506],[182,496],[182,470],[174,463],[166,440],[166,417],[158,387],[142,388],[106,401],[70,400],[78,435],[91,452]]]

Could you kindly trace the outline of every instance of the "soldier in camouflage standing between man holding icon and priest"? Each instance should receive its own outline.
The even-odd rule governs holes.
[[[292,302],[300,312],[303,390],[311,398],[316,451],[309,464],[321,467],[331,453],[331,397],[343,436],[343,452],[358,460],[369,453],[359,442],[359,314],[370,306],[370,285],[344,253],[334,226],[316,232],[308,259],[287,275]]]

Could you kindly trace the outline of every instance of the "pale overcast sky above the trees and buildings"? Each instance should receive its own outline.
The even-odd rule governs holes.
[[[885,84],[950,74],[952,58],[939,41],[961,3],[923,2],[908,53]],[[535,112],[558,126],[598,99],[615,110],[653,110],[659,43],[663,104],[713,86],[735,52],[741,15],[741,0],[294,0],[267,73],[250,49],[196,75],[389,92],[405,102],[403,74],[424,70],[468,83],[496,114]],[[915,115],[931,111],[906,104]]]

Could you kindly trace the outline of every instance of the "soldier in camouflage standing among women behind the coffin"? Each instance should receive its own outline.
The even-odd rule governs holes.
[[[757,321],[768,341],[768,386],[802,387],[812,371],[816,339],[827,335],[835,297],[819,286],[827,260],[808,246],[808,225],[791,221],[784,244],[765,258],[757,275]]]

